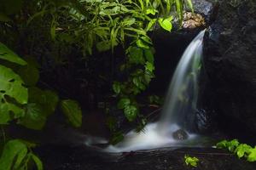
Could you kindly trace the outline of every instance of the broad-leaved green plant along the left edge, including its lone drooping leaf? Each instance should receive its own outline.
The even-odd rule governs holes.
[[[59,97],[55,92],[36,87],[39,78],[38,64],[32,58],[21,59],[0,42],[0,125],[10,122],[41,130],[47,117],[55,112]],[[61,110],[74,127],[81,126],[82,112],[73,100],[62,100]],[[41,161],[32,153],[35,144],[25,140],[4,141],[0,169],[28,169],[34,161],[43,169]]]

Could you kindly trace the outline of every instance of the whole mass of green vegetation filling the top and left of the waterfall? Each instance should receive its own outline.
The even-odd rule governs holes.
[[[112,87],[127,120],[143,127],[146,121],[139,113],[137,95],[154,78],[150,31],[156,24],[172,31],[172,21],[183,18],[184,5],[192,8],[190,0],[0,0],[0,4],[1,170],[33,165],[43,169],[32,152],[36,144],[5,133],[11,124],[41,130],[47,117],[60,108],[69,124],[81,126],[79,103],[62,95],[55,84],[44,83],[49,73],[79,69],[77,63],[85,65],[83,81],[89,84],[85,88],[98,80]],[[121,57],[115,63],[118,51]],[[109,71],[102,74],[95,67],[101,67],[102,59],[96,56],[104,52]],[[111,130],[119,134],[115,127]]]

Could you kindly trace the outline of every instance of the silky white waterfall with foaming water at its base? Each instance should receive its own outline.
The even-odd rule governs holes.
[[[201,67],[202,42],[205,31],[201,31],[190,42],[180,59],[172,82],[166,95],[159,122],[148,124],[143,132],[131,131],[125,139],[116,145],[109,145],[104,151],[123,152],[131,150],[148,150],[169,146],[188,146],[198,136],[189,133],[191,125],[184,120],[195,113],[198,86],[197,78]],[[186,139],[178,140],[174,134],[178,130],[186,134]]]

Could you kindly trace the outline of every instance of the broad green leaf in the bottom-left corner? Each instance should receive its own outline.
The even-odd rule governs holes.
[[[13,165],[19,167],[26,155],[27,148],[19,139],[10,140],[4,145],[3,153],[0,158],[0,170],[12,170]]]

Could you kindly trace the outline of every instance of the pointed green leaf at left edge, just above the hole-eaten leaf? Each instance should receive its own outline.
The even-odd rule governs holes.
[[[0,59],[8,60],[9,62],[16,63],[18,65],[26,65],[26,61],[21,59],[12,50],[6,47],[0,42]]]

